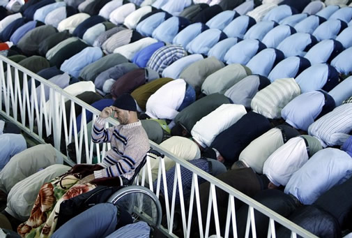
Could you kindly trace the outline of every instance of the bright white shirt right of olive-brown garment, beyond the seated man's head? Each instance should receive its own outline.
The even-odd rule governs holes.
[[[164,84],[146,102],[146,114],[151,118],[171,119],[178,114],[178,107],[185,98],[186,82],[178,79]]]

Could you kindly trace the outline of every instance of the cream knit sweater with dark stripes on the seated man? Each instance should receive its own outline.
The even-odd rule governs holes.
[[[111,142],[112,149],[103,158],[104,169],[94,172],[95,179],[118,177],[123,175],[131,179],[135,168],[149,150],[149,140],[141,121],[132,124],[112,126],[104,129],[105,119],[96,119],[92,129],[92,140],[95,143]]]

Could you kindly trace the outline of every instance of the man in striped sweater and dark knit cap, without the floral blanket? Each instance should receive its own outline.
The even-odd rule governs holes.
[[[105,119],[113,112],[120,125],[104,129]],[[103,177],[132,178],[135,168],[149,150],[149,141],[137,118],[136,103],[130,94],[122,94],[112,106],[102,110],[93,126],[92,140],[95,143],[111,142],[112,149],[107,151],[100,163],[103,169],[82,179],[82,184]]]

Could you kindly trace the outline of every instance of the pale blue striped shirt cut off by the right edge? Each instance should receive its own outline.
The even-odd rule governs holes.
[[[308,128],[312,135],[321,142],[323,147],[342,145],[350,137],[352,131],[352,104],[347,103],[336,107],[332,112],[315,121]]]

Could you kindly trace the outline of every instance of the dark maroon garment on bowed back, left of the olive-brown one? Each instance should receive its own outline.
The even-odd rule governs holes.
[[[132,70],[122,77],[119,77],[114,84],[112,84],[111,93],[114,98],[121,94],[130,94],[137,87],[146,83],[146,70],[144,68],[137,68]]]

